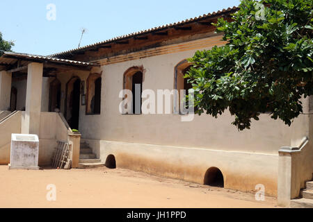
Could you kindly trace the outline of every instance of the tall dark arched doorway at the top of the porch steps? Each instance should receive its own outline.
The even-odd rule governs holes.
[[[66,84],[65,118],[72,129],[79,129],[79,110],[81,99],[81,79],[71,78]]]

